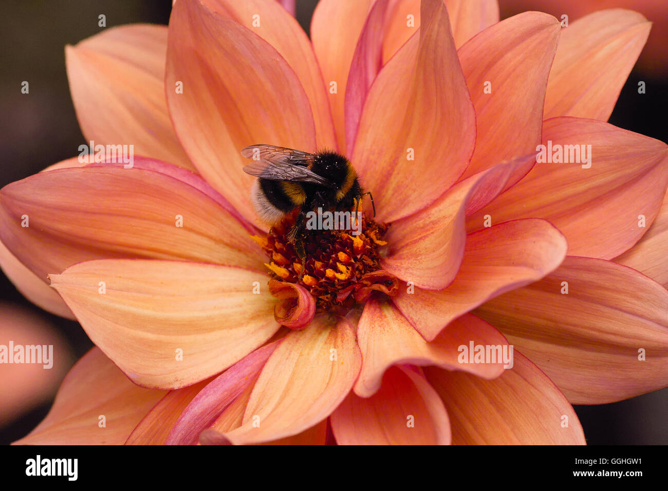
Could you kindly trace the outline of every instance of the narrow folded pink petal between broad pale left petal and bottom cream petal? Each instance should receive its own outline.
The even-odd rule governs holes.
[[[256,349],[206,385],[178,418],[166,443],[192,445],[207,428],[213,426],[214,430],[218,430],[214,423],[220,414],[242,393],[250,393],[257,375],[276,347],[277,343],[271,343]]]

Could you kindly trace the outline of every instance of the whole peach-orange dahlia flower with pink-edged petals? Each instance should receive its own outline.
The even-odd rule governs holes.
[[[649,29],[178,0],[67,47],[84,136],[137,156],[0,190],[3,268],[96,344],[18,443],[584,444],[572,403],[668,381],[668,150],[606,122]],[[337,150],[377,214],[301,263],[253,144]]]

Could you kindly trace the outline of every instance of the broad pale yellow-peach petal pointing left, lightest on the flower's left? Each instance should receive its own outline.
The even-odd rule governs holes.
[[[279,329],[275,299],[267,289],[253,294],[266,275],[240,268],[102,259],[49,278],[90,339],[144,387],[210,377]]]

